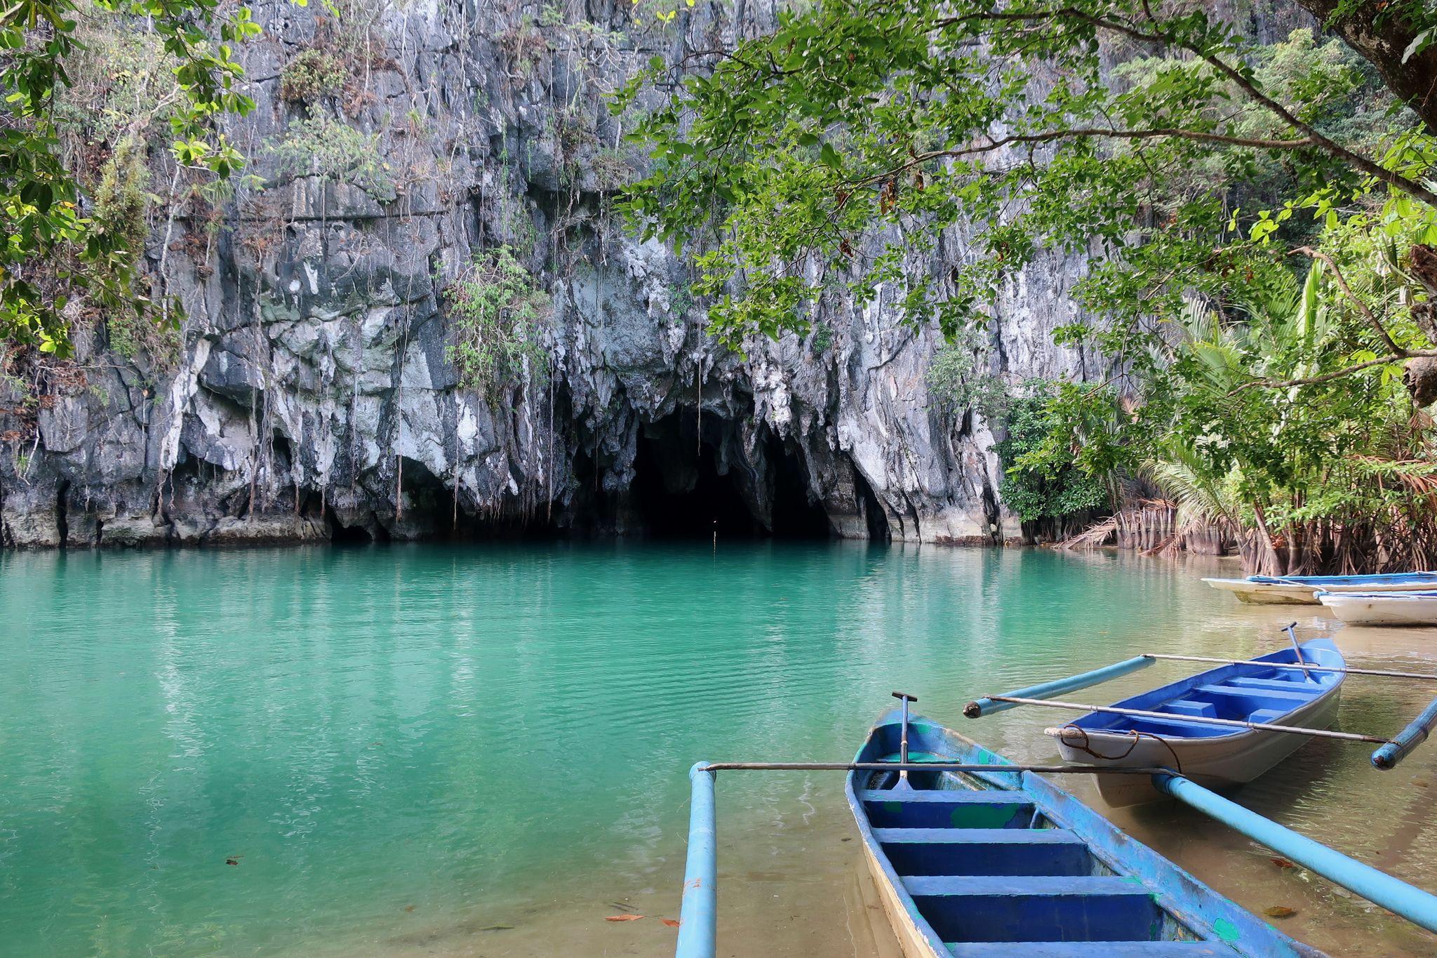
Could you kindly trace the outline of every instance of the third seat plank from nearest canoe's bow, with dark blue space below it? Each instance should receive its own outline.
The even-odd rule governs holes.
[[[1118,876],[902,879],[943,941],[1160,941],[1164,911],[1142,882]]]

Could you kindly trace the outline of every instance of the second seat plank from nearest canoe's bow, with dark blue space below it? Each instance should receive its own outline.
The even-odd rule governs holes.
[[[1066,829],[874,829],[898,875],[1092,875]]]

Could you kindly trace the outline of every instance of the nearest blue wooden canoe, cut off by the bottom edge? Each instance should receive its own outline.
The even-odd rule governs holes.
[[[902,712],[892,710],[855,763],[898,761],[901,737]],[[848,774],[848,801],[905,958],[1322,955],[1039,776],[1003,771],[1006,758],[951,730],[912,717],[908,761],[993,771]]]

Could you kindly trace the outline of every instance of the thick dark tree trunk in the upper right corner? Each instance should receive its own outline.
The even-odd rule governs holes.
[[[1355,7],[1331,24],[1348,46],[1367,57],[1382,75],[1387,86],[1397,93],[1427,125],[1437,132],[1437,45],[1403,63],[1403,53],[1423,32],[1420,23],[1404,17],[1397,7],[1418,4],[1357,3],[1344,0],[1298,0],[1303,10],[1328,26],[1332,11],[1341,6]]]

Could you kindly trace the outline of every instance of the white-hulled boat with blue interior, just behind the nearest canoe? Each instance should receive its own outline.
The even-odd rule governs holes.
[[[1305,642],[1302,649],[1313,665],[1345,665],[1329,639]],[[1295,664],[1296,655],[1282,649],[1257,661]],[[1292,733],[1203,725],[1186,717],[1326,728],[1336,720],[1344,678],[1341,672],[1312,672],[1309,678],[1298,669],[1223,665],[1117,702],[1119,708],[1171,714],[1171,721],[1092,712],[1045,731],[1073,764],[1167,767],[1210,789],[1232,787],[1266,773],[1308,740]],[[1098,776],[1098,791],[1118,807],[1161,797],[1147,778],[1129,776]]]

